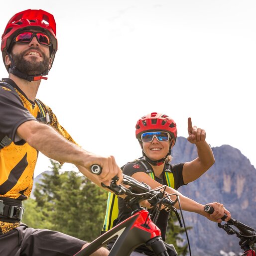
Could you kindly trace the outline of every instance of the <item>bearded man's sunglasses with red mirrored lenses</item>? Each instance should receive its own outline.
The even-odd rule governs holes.
[[[24,31],[18,34],[13,40],[15,43],[29,43],[34,36],[40,44],[51,46],[50,38],[42,32]]]

